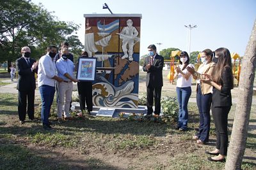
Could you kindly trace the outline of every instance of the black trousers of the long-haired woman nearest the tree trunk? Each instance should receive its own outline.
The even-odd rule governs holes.
[[[231,106],[212,107],[212,117],[216,128],[216,148],[221,155],[227,155],[228,150],[228,113]]]

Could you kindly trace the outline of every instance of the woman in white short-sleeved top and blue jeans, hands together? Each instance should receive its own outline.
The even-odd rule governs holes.
[[[186,131],[188,128],[188,100],[191,96],[191,73],[186,67],[193,67],[189,64],[189,56],[187,52],[181,52],[179,57],[179,65],[175,67],[176,73],[174,78],[177,78],[177,100],[179,103],[179,118],[176,129]]]

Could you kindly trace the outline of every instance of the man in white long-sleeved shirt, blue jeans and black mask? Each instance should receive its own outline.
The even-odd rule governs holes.
[[[56,46],[48,46],[47,54],[40,58],[38,64],[38,87],[42,100],[41,118],[43,127],[47,131],[52,131],[52,127],[50,126],[51,123],[49,122],[49,114],[54,98],[55,84],[56,81],[63,81],[62,78],[56,75],[56,66],[54,62],[56,52]]]

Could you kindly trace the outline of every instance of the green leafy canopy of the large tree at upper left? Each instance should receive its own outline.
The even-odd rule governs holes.
[[[42,4],[38,6],[26,0],[1,1],[0,17],[0,62],[19,58],[22,46],[29,46],[31,57],[38,59],[48,45],[59,45],[61,41],[70,43],[75,57],[81,53],[83,45],[72,35],[79,25],[59,21]]]

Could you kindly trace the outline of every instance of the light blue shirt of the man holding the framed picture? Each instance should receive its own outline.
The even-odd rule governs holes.
[[[71,81],[69,78],[64,76],[65,73],[68,73],[73,77],[74,64],[70,59],[64,60],[62,57],[56,61],[56,67],[58,71],[58,76],[65,81]]]

